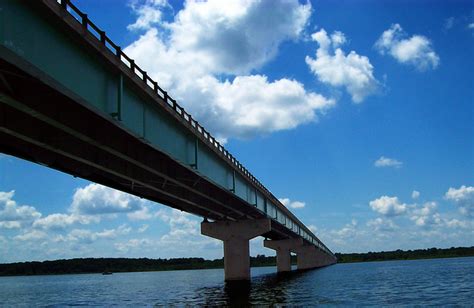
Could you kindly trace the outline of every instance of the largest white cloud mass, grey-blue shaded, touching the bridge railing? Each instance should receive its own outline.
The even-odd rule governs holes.
[[[125,52],[221,142],[250,138],[315,121],[335,105],[296,80],[250,74],[300,36],[310,13],[296,0],[188,1]]]

